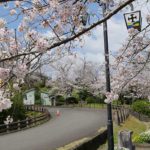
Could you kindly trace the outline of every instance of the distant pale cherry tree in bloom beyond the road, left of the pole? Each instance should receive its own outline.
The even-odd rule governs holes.
[[[75,89],[87,88],[90,92],[104,92],[104,67],[87,61],[77,54],[50,63],[55,76],[55,84],[66,92],[69,87]]]

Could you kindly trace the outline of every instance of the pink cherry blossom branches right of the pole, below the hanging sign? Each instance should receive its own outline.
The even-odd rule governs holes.
[[[119,50],[112,68],[112,87],[121,93],[130,87],[136,87],[137,97],[149,96],[149,32],[147,25],[142,32],[131,29],[129,38]]]

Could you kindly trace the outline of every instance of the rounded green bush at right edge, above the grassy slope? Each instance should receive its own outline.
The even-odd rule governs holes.
[[[132,109],[138,113],[143,115],[147,115],[150,117],[150,103],[147,101],[136,101],[132,104]]]

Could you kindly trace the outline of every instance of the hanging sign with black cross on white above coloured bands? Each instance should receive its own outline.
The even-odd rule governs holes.
[[[141,24],[142,24],[142,18],[141,18],[141,11],[135,11],[131,13],[124,14],[125,22],[127,29],[137,29],[138,31],[141,31]]]

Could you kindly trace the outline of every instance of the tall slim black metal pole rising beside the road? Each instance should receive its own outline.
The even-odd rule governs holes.
[[[103,17],[105,17],[105,12],[106,12],[107,6],[106,6],[106,4],[102,4],[102,7],[103,7]],[[111,92],[107,21],[105,21],[103,23],[103,34],[104,34],[106,92]],[[114,137],[113,137],[113,122],[112,122],[111,103],[107,104],[107,130],[108,130],[108,135],[107,135],[108,136],[108,150],[114,150]]]

